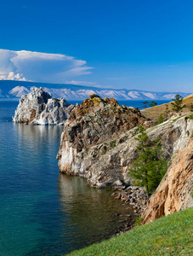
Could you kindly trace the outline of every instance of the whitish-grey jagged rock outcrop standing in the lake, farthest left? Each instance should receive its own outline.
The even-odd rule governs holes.
[[[13,121],[31,125],[62,125],[73,108],[65,99],[53,97],[42,87],[33,87],[30,93],[21,96]]]

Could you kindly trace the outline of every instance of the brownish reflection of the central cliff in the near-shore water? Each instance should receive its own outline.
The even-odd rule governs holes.
[[[71,225],[76,225],[76,237],[71,239],[81,240],[84,246],[109,238],[118,226],[124,226],[122,217],[116,213],[133,214],[111,196],[110,189],[88,187],[82,177],[60,174],[58,185],[61,210],[69,216]]]

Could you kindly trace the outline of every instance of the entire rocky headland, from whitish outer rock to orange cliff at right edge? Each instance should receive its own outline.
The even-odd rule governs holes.
[[[188,104],[191,99],[192,96],[187,97]],[[152,108],[156,118],[157,108]],[[96,94],[75,107],[43,88],[33,88],[21,97],[14,122],[65,123],[57,155],[60,172],[86,177],[88,185],[96,188],[114,188],[115,199],[131,205],[135,215],[142,214],[146,223],[193,204],[193,119],[190,113],[170,113],[169,119],[156,125],[155,118],[148,119],[142,113],[138,108],[120,106],[115,99],[102,99]],[[150,200],[145,189],[134,186],[129,176],[129,168],[139,154],[139,141],[135,138],[139,136],[140,124],[151,141],[162,137],[162,156],[169,166]],[[127,223],[126,230],[129,228]]]

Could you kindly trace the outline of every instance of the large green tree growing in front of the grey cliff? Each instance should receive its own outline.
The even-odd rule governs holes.
[[[133,168],[130,168],[129,172],[136,185],[145,186],[149,197],[167,171],[167,162],[160,156],[162,153],[161,137],[150,141],[141,125],[139,125],[139,131],[139,137],[135,138],[139,141],[139,146],[137,146],[139,156],[133,162]]]

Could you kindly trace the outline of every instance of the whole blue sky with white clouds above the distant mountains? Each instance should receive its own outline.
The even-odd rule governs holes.
[[[0,3],[2,79],[193,92],[192,1]]]

